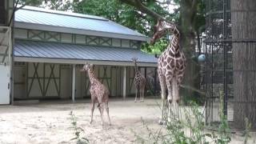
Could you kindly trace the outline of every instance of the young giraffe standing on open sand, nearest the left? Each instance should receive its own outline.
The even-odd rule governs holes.
[[[104,107],[106,108],[106,114],[109,118],[110,122],[110,114],[109,114],[109,90],[104,86],[101,82],[99,82],[98,78],[94,76],[94,65],[86,63],[81,71],[87,71],[88,76],[90,78],[90,97],[91,97],[91,117],[90,117],[90,123],[93,122],[93,115],[94,115],[94,104],[95,102],[98,102],[98,110],[101,114],[101,122],[103,125],[103,111]]]

